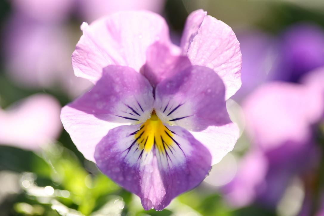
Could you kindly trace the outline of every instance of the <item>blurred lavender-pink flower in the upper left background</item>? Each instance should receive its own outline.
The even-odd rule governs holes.
[[[90,88],[71,69],[71,34],[62,25],[40,25],[14,17],[6,35],[6,72],[27,88],[59,88],[71,97]]]

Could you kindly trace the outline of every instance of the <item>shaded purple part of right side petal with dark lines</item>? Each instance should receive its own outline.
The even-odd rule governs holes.
[[[154,108],[163,122],[191,131],[230,122],[223,81],[213,70],[192,66],[156,87]]]

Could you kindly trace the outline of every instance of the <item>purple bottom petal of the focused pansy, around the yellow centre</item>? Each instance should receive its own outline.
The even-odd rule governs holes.
[[[170,201],[197,186],[210,170],[211,155],[186,130],[169,126],[172,142],[161,150],[135,138],[139,125],[120,126],[109,131],[96,147],[99,169],[125,189],[141,198],[145,210],[163,210]],[[146,138],[147,140],[147,138]]]

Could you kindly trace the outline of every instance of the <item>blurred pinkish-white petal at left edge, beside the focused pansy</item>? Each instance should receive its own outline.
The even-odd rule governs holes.
[[[36,94],[0,110],[0,144],[37,150],[61,132],[60,104],[52,96]]]

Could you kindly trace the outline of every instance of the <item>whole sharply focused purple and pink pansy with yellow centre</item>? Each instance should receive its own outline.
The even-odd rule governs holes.
[[[152,12],[119,12],[81,26],[75,75],[95,83],[61,112],[79,151],[145,210],[162,210],[197,186],[238,136],[226,99],[240,87],[232,29],[203,10],[181,46]]]

